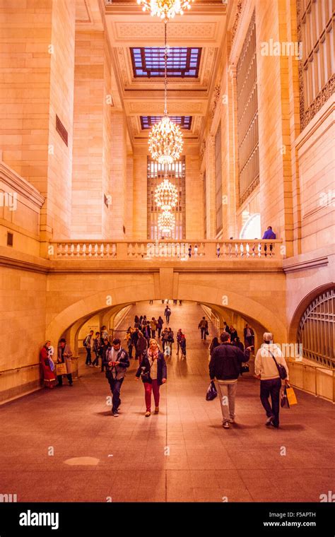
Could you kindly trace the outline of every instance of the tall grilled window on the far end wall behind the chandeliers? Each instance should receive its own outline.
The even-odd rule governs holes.
[[[185,239],[186,210],[185,210],[185,158],[168,165],[167,177],[178,191],[177,206],[171,211],[175,215],[175,229],[169,238],[175,240]],[[155,189],[164,179],[164,165],[158,164],[148,157],[148,240],[164,238],[158,230],[158,216],[161,211],[155,204]]]

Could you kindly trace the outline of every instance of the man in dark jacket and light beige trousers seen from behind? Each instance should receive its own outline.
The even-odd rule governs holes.
[[[223,427],[230,428],[235,417],[235,395],[237,379],[241,371],[242,362],[247,362],[251,348],[242,350],[230,343],[230,334],[221,334],[221,345],[213,350],[209,362],[209,376],[216,379],[220,392],[221,411],[223,415]]]

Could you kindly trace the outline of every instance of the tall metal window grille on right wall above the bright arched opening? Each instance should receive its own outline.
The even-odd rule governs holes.
[[[237,136],[240,204],[259,184],[256,27],[254,13],[237,62]]]

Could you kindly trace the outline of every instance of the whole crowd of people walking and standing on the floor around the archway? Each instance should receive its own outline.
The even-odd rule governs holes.
[[[163,317],[158,319],[146,315],[135,315],[134,326],[129,326],[124,340],[127,350],[122,347],[119,338],[110,341],[106,326],[100,331],[90,330],[83,340],[86,348],[86,366],[100,367],[106,372],[108,383],[112,391],[112,415],[119,415],[121,405],[120,391],[122,382],[130,365],[129,359],[139,360],[136,370],[136,380],[141,378],[144,386],[146,401],[146,417],[151,415],[151,399],[155,402],[155,414],[159,413],[160,386],[167,382],[167,365],[165,358],[172,353],[172,344],[175,343],[174,333],[170,326],[171,309],[167,304]],[[165,327],[164,324],[166,324]],[[202,317],[198,328],[201,340],[209,335],[208,321]],[[237,330],[233,325],[224,322],[223,332],[214,337],[209,346],[209,377],[211,382],[218,384],[223,416],[223,427],[229,429],[235,423],[235,396],[237,379],[243,371],[249,370],[247,362],[254,349],[254,331],[249,324],[243,330],[245,343],[240,341]],[[186,357],[186,337],[182,329],[177,331],[177,355],[181,352]],[[161,346],[160,347],[160,343]],[[92,353],[95,359],[92,361]],[[69,386],[73,386],[72,379],[72,352],[65,338],[61,338],[54,357],[54,348],[51,341],[46,341],[40,351],[45,386],[52,389],[56,382],[63,385],[63,376],[66,375]],[[281,350],[273,343],[273,334],[264,333],[264,341],[257,351],[254,362],[254,376],[260,380],[260,399],[266,412],[266,426],[279,426],[281,381],[288,384],[288,367]],[[271,400],[271,402],[270,402]]]

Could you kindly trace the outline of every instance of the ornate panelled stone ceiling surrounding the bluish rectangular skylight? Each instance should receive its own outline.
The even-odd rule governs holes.
[[[105,15],[105,30],[112,48],[112,66],[119,97],[123,103],[133,143],[148,137],[141,116],[163,115],[163,78],[134,76],[131,47],[163,47],[164,23],[143,13],[136,0],[76,0],[77,25],[98,24],[99,8]],[[196,78],[168,78],[170,116],[190,116],[185,138],[199,139],[201,122],[206,115],[213,91],[218,51],[225,33],[226,3],[222,0],[195,0],[192,9],[167,23],[168,47],[199,47],[201,59]]]

